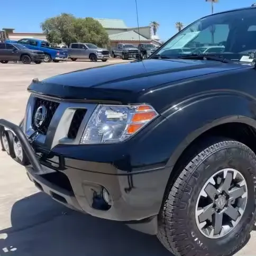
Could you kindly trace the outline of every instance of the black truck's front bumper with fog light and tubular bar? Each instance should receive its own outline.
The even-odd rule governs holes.
[[[44,161],[44,157],[37,154],[38,149],[31,146],[21,127],[6,120],[0,120],[0,127],[13,131],[21,142],[30,162],[25,166],[30,180],[61,204],[96,217],[124,222],[144,222],[158,214],[164,191],[162,178],[165,179],[168,170],[162,169],[162,173],[151,170],[129,174],[121,172],[109,161],[67,158],[72,156],[74,147],[76,150],[85,147],[75,145],[56,147],[56,151],[53,149],[49,153],[53,153],[53,156]],[[93,156],[94,159],[96,157]],[[106,205],[103,199],[103,188],[112,198],[111,205]]]

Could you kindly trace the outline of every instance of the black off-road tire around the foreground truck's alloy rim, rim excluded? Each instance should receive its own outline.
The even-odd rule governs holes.
[[[192,147],[184,159],[189,160],[182,166],[180,164],[175,170],[176,178],[168,182],[159,213],[157,236],[177,256],[231,256],[248,241],[255,222],[255,153],[237,141],[209,138]],[[248,199],[243,216],[234,229],[221,238],[210,239],[196,225],[195,208],[205,182],[223,168],[234,168],[242,173]]]

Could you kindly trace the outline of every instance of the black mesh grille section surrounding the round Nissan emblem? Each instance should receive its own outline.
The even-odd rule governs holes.
[[[42,123],[42,125],[38,128],[34,124],[34,117],[35,117],[36,110],[40,106],[44,106],[47,109],[47,115],[46,115],[45,120]],[[59,106],[58,102],[51,102],[50,100],[36,98],[35,105],[34,105],[34,111],[33,111],[33,115],[32,115],[32,120],[31,120],[32,128],[35,131],[38,131],[40,134],[46,135],[49,125],[50,125],[50,122],[52,120],[52,117],[53,117],[54,113],[56,112],[56,109],[58,108],[58,106]]]

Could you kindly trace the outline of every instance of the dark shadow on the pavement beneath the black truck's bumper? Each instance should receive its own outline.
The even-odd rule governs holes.
[[[11,223],[0,231],[1,256],[172,255],[156,236],[77,213],[43,193],[16,202]]]

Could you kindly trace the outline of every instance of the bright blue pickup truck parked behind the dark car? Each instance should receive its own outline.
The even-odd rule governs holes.
[[[23,38],[18,41],[7,40],[6,42],[15,42],[25,45],[25,47],[32,50],[40,50],[44,52],[44,62],[59,62],[60,60],[68,59],[68,51],[61,48],[50,47],[47,41],[34,39],[34,38]]]

